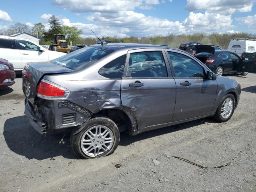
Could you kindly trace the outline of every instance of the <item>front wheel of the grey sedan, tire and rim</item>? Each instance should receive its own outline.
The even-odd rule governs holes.
[[[222,98],[220,105],[218,106],[218,109],[214,115],[214,118],[218,122],[228,121],[234,113],[235,106],[236,106],[236,99],[234,95],[232,94],[225,95]]]

